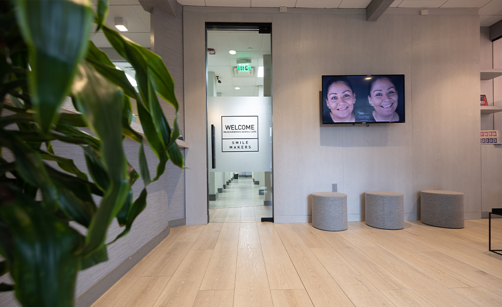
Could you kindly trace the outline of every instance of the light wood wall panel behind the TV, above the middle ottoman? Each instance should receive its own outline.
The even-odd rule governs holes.
[[[404,194],[405,218],[416,220],[412,194],[411,21],[384,15],[376,23],[343,17],[343,74],[404,74],[406,123],[343,128],[344,193],[349,221],[364,220],[364,193]],[[378,46],[378,47],[377,47]],[[355,93],[367,100],[368,93]],[[352,215],[352,216],[351,216]]]

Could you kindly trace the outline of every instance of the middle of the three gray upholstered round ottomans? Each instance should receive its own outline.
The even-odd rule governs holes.
[[[366,225],[382,229],[404,228],[404,194],[370,191],[364,193]]]

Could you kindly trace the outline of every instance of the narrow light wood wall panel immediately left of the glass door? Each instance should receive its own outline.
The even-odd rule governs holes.
[[[205,24],[203,13],[183,13],[186,224],[207,223]]]

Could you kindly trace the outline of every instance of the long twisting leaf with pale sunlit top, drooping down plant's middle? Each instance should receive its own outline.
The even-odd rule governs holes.
[[[123,206],[129,189],[127,160],[121,143],[122,91],[82,62],[75,75],[73,95],[89,127],[101,139],[100,159],[110,181],[80,251],[87,256],[104,243],[108,226]]]

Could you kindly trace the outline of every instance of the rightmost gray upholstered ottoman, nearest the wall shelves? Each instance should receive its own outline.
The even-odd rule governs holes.
[[[422,223],[443,228],[464,228],[464,193],[420,191]]]

